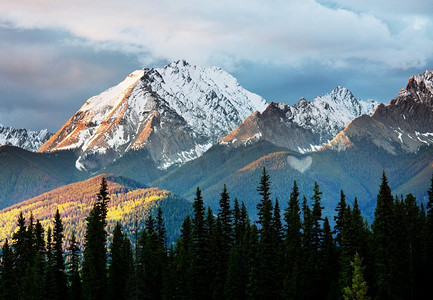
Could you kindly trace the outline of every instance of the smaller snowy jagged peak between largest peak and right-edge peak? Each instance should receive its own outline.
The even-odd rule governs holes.
[[[336,87],[311,102],[302,98],[294,106],[271,103],[262,114],[249,116],[220,143],[236,146],[262,139],[294,151],[312,151],[334,138],[352,119],[372,114],[377,105]]]

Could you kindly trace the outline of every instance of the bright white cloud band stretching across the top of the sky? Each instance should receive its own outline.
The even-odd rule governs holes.
[[[421,14],[423,1],[424,9],[352,2],[18,0],[0,4],[0,16],[17,27],[63,29],[114,45],[142,55],[143,63],[151,63],[150,54],[229,69],[239,61],[338,67],[347,59],[409,68],[432,57],[433,24]]]

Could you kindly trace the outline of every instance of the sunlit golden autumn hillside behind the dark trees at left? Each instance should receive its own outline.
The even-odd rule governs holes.
[[[67,241],[74,231],[78,242],[82,245],[86,230],[86,220],[97,199],[102,177],[108,183],[111,200],[108,203],[107,230],[112,232],[119,221],[126,233],[142,231],[144,220],[149,214],[156,213],[161,206],[167,227],[169,240],[178,235],[178,228],[183,218],[190,212],[190,203],[178,198],[167,190],[158,188],[132,189],[114,181],[112,175],[99,175],[85,181],[62,186],[27,201],[0,211],[0,240],[10,239],[17,228],[17,219],[22,211],[26,220],[33,213],[34,219],[39,219],[46,230],[52,226],[56,209],[59,209],[64,224],[64,234]],[[168,205],[167,205],[168,204]],[[135,220],[138,228],[135,228]],[[132,236],[133,239],[133,236]],[[67,246],[67,243],[66,245]]]

